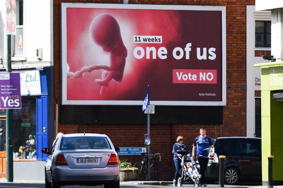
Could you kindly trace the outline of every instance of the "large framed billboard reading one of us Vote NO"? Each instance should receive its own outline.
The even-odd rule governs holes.
[[[62,104],[225,106],[225,12],[62,3]]]

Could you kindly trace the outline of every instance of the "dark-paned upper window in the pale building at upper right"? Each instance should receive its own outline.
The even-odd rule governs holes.
[[[271,47],[271,21],[255,21],[255,47]]]

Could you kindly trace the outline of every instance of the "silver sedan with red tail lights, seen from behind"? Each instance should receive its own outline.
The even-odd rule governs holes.
[[[76,133],[61,135],[45,163],[45,187],[63,185],[104,185],[120,187],[119,148],[105,134]]]

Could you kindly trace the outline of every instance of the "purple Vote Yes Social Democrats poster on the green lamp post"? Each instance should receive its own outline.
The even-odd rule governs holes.
[[[0,108],[21,108],[20,73],[0,74]]]

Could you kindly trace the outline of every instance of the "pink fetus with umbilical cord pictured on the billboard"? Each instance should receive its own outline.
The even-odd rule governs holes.
[[[119,24],[110,14],[99,14],[90,24],[89,34],[95,45],[101,47],[104,52],[109,53],[109,66],[106,64],[93,64],[83,67],[75,73],[68,72],[67,78],[78,79],[83,77],[85,73],[100,69],[105,70],[101,79],[95,79],[95,82],[101,86],[100,95],[103,95],[110,80],[122,81],[127,49],[121,38]]]

